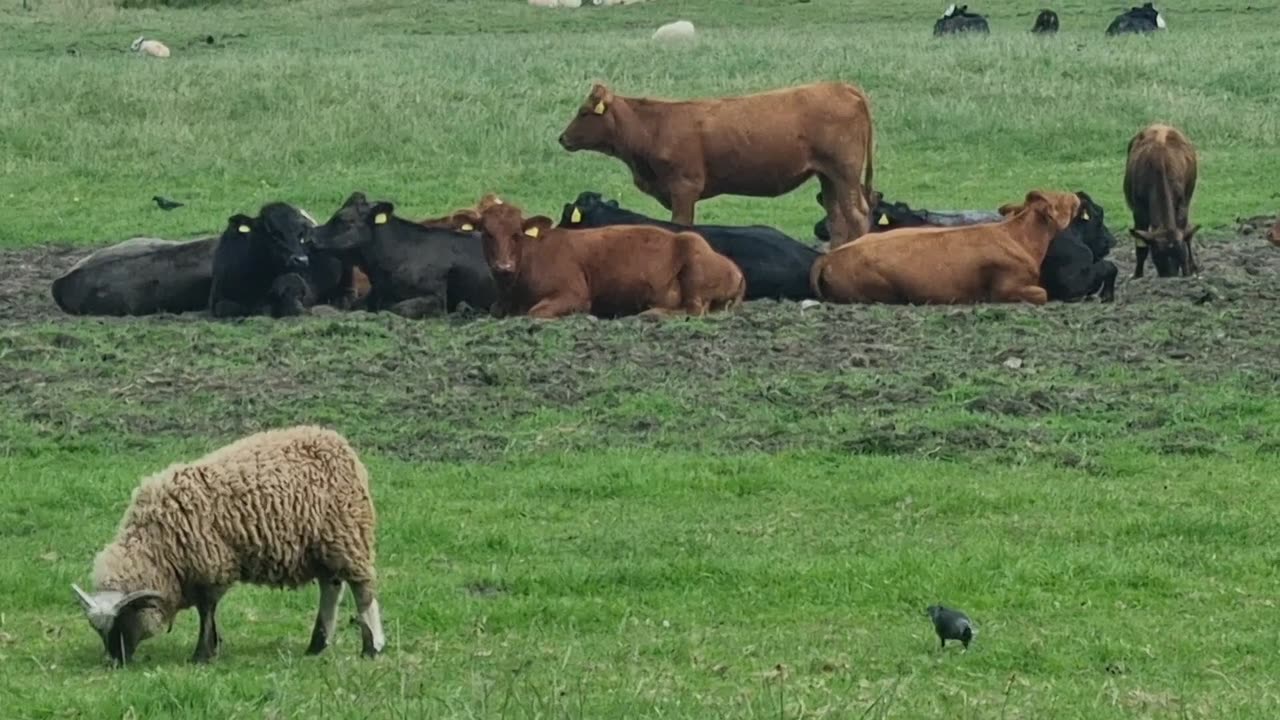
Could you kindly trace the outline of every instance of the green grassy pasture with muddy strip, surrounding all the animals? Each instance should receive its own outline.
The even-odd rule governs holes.
[[[303,0],[0,8],[0,716],[1276,717],[1280,9],[1129,3]],[[741,5],[741,6],[740,6]],[[655,49],[671,19],[703,33]],[[125,50],[138,35],[174,56]],[[204,35],[225,37],[207,49]],[[69,46],[77,55],[67,53]],[[1124,147],[1199,146],[1203,277],[1114,305],[833,307],[550,324],[352,313],[61,315],[88,246],[220,229],[353,190],[407,215],[497,191],[658,205],[556,136],[594,81],[703,96],[842,78],[876,186],[932,209],[1085,190],[1123,237]],[[814,186],[701,219],[801,238]],[[187,201],[161,213],[152,195]],[[1132,250],[1120,242],[1121,277]],[[113,671],[76,605],[138,480],[321,423],[372,473],[389,647],[302,656],[316,592],[241,587],[223,656],[193,614]],[[966,610],[968,653],[924,607]],[[349,603],[344,606],[344,616]]]

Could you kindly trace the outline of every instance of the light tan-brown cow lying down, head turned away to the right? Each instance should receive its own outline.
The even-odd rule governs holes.
[[[901,228],[833,250],[813,264],[813,290],[833,302],[1043,305],[1041,263],[1080,199],[1032,191],[1021,209],[1006,209],[998,223]]]

